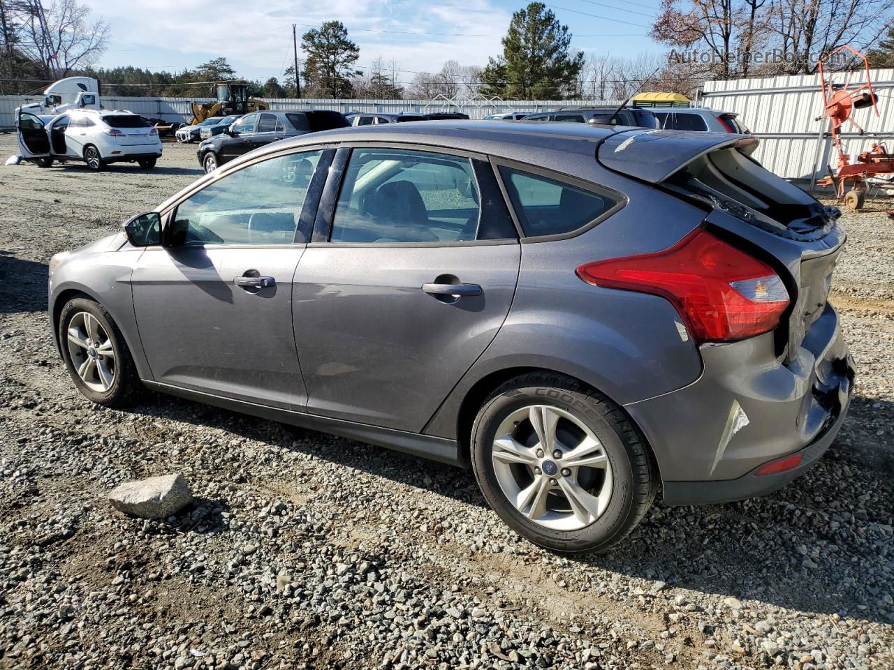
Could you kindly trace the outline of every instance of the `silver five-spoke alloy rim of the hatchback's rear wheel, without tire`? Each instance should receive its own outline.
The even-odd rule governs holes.
[[[611,463],[585,423],[559,407],[508,415],[493,440],[493,472],[519,513],[555,531],[578,531],[611,501]]]

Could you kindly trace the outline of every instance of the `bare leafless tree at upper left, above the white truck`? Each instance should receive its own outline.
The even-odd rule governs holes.
[[[61,79],[77,68],[96,63],[109,38],[102,19],[89,21],[89,7],[76,0],[42,0],[22,3],[25,19],[18,48],[47,78]]]

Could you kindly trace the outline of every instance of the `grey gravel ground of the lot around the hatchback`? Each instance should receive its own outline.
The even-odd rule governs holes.
[[[0,136],[0,155],[13,153]],[[46,263],[198,177],[0,169],[0,667],[894,666],[894,222],[847,214],[833,301],[859,364],[814,470],[767,498],[655,506],[609,554],[510,532],[471,473],[149,395],[73,389]],[[888,205],[890,208],[890,205]],[[120,482],[183,473],[167,522]]]

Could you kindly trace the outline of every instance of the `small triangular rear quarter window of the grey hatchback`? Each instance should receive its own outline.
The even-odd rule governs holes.
[[[578,230],[619,204],[614,198],[539,174],[505,166],[500,174],[528,238]]]

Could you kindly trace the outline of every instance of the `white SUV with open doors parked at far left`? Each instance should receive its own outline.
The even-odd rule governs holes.
[[[83,161],[97,172],[108,163],[129,162],[149,170],[162,155],[158,131],[122,110],[79,109],[54,117],[22,112],[18,128],[21,156],[39,167]]]

